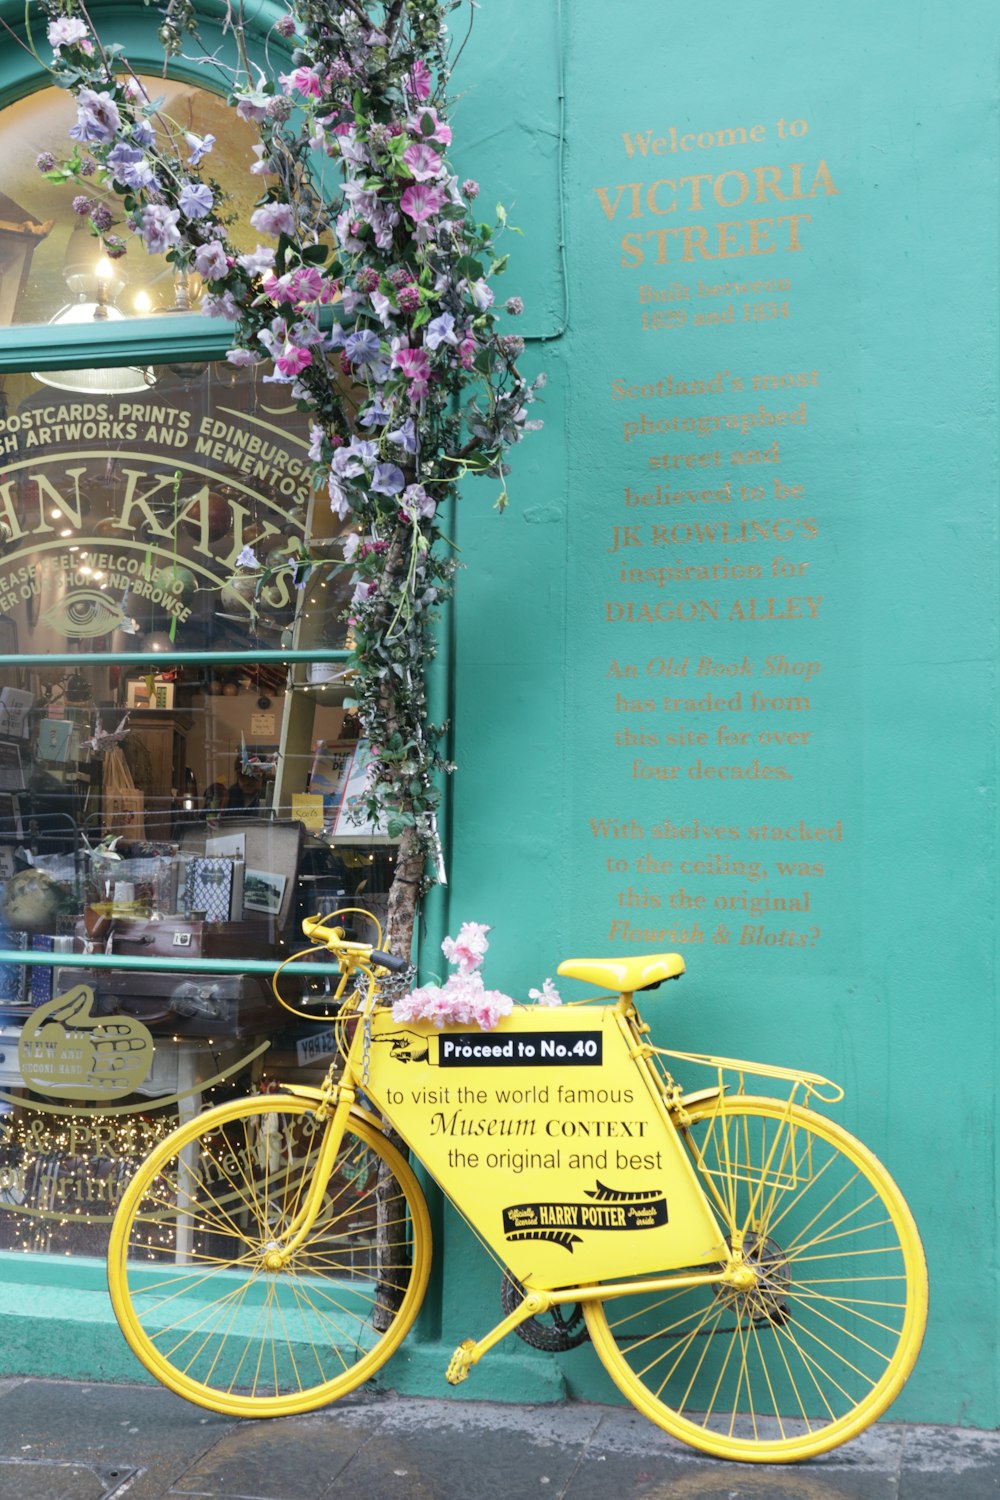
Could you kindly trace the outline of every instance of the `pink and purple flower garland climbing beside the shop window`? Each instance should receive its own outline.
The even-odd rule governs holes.
[[[40,170],[85,186],[73,208],[109,256],[126,252],[124,231],[178,273],[196,272],[202,310],[232,324],[229,363],[270,360],[264,378],[288,384],[310,412],[313,483],[348,528],[352,692],[373,766],[367,814],[388,813],[400,838],[390,896],[400,950],[439,864],[435,778],[450,770],[424,690],[435,609],[454,572],[442,504],[462,476],[486,474],[502,508],[505,454],[540,426],[528,408],[543,384],[520,375],[523,340],[499,322],[504,210],[477,220],[478,184],[459,182],[447,156],[445,15],[457,3],[292,0],[274,28],[288,58],[276,78],[252,63],[228,18],[238,56],[229,102],[259,134],[259,240],[249,252],[232,244],[223,194],[205,176],[213,138],[163,117],[84,4],[43,3],[48,66],[73,94],[76,123],[72,156],[42,158]],[[171,0],[166,52],[190,34],[190,0]],[[517,316],[520,298],[504,312]],[[252,550],[240,562],[258,592],[267,586],[273,572]],[[315,562],[306,546],[292,560],[297,580]]]

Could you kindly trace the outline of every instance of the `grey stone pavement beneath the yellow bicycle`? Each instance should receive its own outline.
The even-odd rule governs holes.
[[[630,1407],[355,1395],[241,1422],[157,1386],[0,1380],[0,1500],[999,1500],[1000,1434],[880,1424],[724,1464]]]

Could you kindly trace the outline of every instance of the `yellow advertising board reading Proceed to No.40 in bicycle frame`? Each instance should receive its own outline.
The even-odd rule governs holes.
[[[613,1006],[517,1006],[492,1032],[379,1011],[366,1092],[528,1287],[726,1252]]]

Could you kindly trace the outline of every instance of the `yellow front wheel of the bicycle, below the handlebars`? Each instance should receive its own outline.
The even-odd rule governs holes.
[[[328,1128],[291,1095],[222,1104],[160,1142],[126,1190],[108,1254],[114,1311],[145,1368],[189,1401],[228,1416],[310,1412],[367,1380],[417,1317],[427,1208],[360,1118],[306,1240],[282,1269],[267,1264]]]

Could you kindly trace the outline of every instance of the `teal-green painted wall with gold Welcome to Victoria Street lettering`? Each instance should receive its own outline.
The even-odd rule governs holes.
[[[525,332],[556,333],[567,296],[570,318],[553,342],[531,344],[532,368],[550,378],[546,429],[514,459],[511,510],[489,514],[475,488],[462,510],[450,902],[453,926],[495,926],[493,982],[537,984],[570,952],[676,946],[688,976],[652,1002],[664,1044],[838,1078],[847,1100],[832,1113],[897,1174],[931,1269],[927,1342],[894,1414],[984,1426],[1000,1420],[996,44],[996,10],[979,3],[762,0],[684,16],[654,0],[574,0],[561,16],[553,4],[514,3],[478,15],[466,54],[468,165],[514,201],[525,228],[510,270],[511,290],[526,288]],[[738,134],[718,140],[738,128],[742,144]],[[646,132],[643,156],[634,138]],[[691,134],[702,144],[682,150]],[[820,162],[814,195],[795,198]],[[676,190],[651,195],[661,178]],[[609,208],[618,201],[613,214],[597,189]],[[795,240],[778,218],[792,213],[811,216]],[[624,236],[639,238],[622,248]],[[751,256],[754,246],[774,252]],[[700,284],[783,279],[781,292],[700,294]],[[643,302],[643,286],[669,300]],[[744,314],[759,303],[777,315]],[[729,309],[732,322],[699,318]],[[643,312],[684,318],[643,327]],[[784,375],[805,384],[753,388],[753,376]],[[616,400],[615,381],[654,390]],[[675,384],[655,394],[660,381]],[[702,394],[669,393],[694,381]],[[762,406],[799,420],[765,418],[745,435],[684,426],[750,420]],[[643,432],[643,417],[670,429]],[[639,426],[630,441],[627,422]],[[777,462],[732,462],[772,452],[775,440]],[[651,468],[664,453],[682,466]],[[691,468],[687,454],[718,460]],[[726,484],[732,498],[627,502],[627,488],[655,500],[657,484],[660,498]],[[741,484],[762,486],[763,498],[741,500]],[[742,540],[747,520],[763,530]],[[696,524],[715,526],[717,540],[705,530],[697,540]],[[637,544],[612,550],[625,526]],[[688,530],[657,540],[654,526]],[[622,562],[649,573],[622,582]],[[762,576],[649,576],[712,564],[759,564]],[[693,602],[705,616],[702,600],[718,618],[669,618],[670,604],[684,616]],[[730,618],[736,600],[744,616],[753,608],[765,618]],[[666,618],[628,622],[619,602],[636,616],[661,606]],[[699,676],[702,657],[750,669]],[[766,678],[769,657],[820,669],[808,682],[807,669]],[[646,663],[670,658],[687,660],[685,676],[648,674]],[[637,675],[615,676],[613,663]],[[808,708],[754,710],[754,692]],[[618,694],[654,706],[625,708]],[[702,706],[664,712],[664,699]],[[747,738],[720,742],[720,729]],[[705,740],[667,746],[667,734]],[[775,738],[787,734],[808,738]],[[691,774],[699,760],[781,770]],[[636,762],[676,772],[648,778]],[[595,836],[592,819],[634,819],[643,832]],[[694,832],[696,822],[700,837],[652,837],[664,824]],[[843,838],[750,838],[799,825]],[[670,868],[651,868],[651,858]],[[702,872],[682,872],[682,860]],[[738,872],[736,861],[754,860],[766,874]],[[781,874],[778,860],[823,873]],[[619,904],[630,888],[636,903],[660,904]],[[762,896],[804,903],[805,892],[808,910],[754,916],[739,906]],[[681,904],[691,900],[703,904]],[[636,942],[622,940],[622,921],[639,928]],[[720,922],[729,942],[714,940]],[[750,933],[763,942],[741,942]],[[469,1288],[489,1294],[495,1280],[481,1268],[478,1251],[450,1250],[445,1334],[481,1322]],[[604,1398],[586,1356],[565,1368],[577,1389]],[[487,1378],[477,1371],[480,1389]]]

